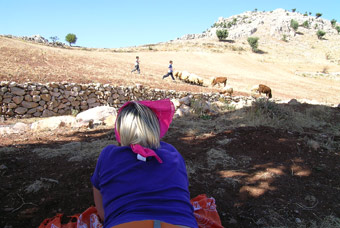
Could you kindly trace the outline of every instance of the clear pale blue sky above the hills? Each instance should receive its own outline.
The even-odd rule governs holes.
[[[0,34],[58,36],[65,42],[74,33],[79,46],[127,47],[201,33],[218,17],[255,8],[296,8],[340,22],[340,0],[0,0]]]

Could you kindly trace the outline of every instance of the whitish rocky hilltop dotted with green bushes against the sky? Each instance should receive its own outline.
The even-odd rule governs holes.
[[[308,35],[315,35],[318,30],[326,32],[326,34],[338,34],[335,29],[339,26],[336,23],[332,26],[331,21],[321,17],[301,14],[299,12],[290,12],[284,9],[276,9],[269,12],[247,11],[239,15],[228,18],[220,17],[218,20],[203,33],[187,34],[178,40],[190,40],[201,38],[216,38],[216,30],[226,29],[228,31],[228,39],[236,40],[239,38],[249,37],[252,35],[269,35],[278,39],[282,39],[285,35],[286,39],[296,36],[296,32],[291,28],[291,20],[299,23],[298,32]]]

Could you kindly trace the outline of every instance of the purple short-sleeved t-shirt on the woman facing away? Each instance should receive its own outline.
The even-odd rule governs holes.
[[[184,159],[165,142],[155,152],[163,163],[137,160],[128,146],[103,149],[91,182],[102,194],[104,227],[140,220],[198,227]]]

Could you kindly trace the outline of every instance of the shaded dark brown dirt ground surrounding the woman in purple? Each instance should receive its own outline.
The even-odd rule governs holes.
[[[163,140],[186,161],[191,197],[214,197],[224,227],[312,227],[340,217],[339,151],[306,140],[320,132],[228,128],[222,115],[175,119]],[[37,227],[56,213],[70,216],[93,205],[89,178],[100,150],[116,144],[105,126],[0,142],[0,227],[7,228]]]

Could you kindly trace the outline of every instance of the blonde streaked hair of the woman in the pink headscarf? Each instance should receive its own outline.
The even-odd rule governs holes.
[[[148,148],[160,146],[160,127],[156,114],[145,105],[131,102],[117,117],[117,131],[122,146],[139,144]]]

